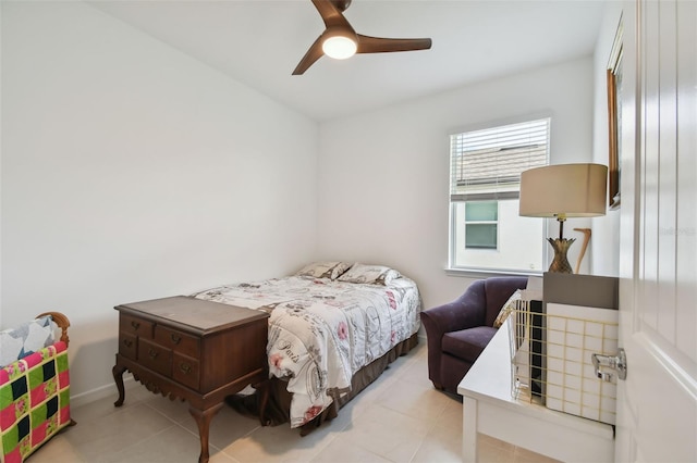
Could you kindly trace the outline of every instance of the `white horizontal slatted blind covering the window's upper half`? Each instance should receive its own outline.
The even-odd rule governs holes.
[[[516,199],[521,173],[549,163],[550,120],[450,137],[451,201]]]

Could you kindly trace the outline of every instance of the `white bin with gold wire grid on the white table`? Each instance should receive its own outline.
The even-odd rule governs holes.
[[[521,301],[509,324],[516,398],[615,424],[615,376],[599,378],[591,354],[616,353],[617,311],[548,303],[542,313],[535,304]]]

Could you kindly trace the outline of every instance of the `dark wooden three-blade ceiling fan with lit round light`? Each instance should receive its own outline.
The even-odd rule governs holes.
[[[305,57],[293,71],[293,75],[305,73],[323,54],[342,60],[353,57],[355,53],[384,53],[431,48],[431,39],[429,38],[392,39],[356,34],[343,15],[343,12],[351,4],[351,0],[311,1],[327,28],[307,50]]]

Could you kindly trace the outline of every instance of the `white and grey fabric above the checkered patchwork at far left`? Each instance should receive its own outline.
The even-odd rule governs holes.
[[[50,315],[0,331],[0,365],[10,363],[56,342],[56,326]]]

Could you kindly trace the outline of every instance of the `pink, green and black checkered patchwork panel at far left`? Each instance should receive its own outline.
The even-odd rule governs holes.
[[[64,342],[41,348],[0,368],[0,461],[23,462],[70,423]]]

